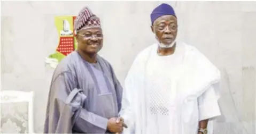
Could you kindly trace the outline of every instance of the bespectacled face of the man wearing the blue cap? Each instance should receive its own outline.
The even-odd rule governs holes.
[[[177,36],[177,19],[173,15],[160,16],[154,21],[151,29],[160,43],[172,44]]]

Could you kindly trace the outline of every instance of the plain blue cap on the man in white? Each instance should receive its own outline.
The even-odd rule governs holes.
[[[163,15],[173,15],[176,17],[173,7],[168,4],[163,3],[163,4],[159,5],[158,7],[156,7],[150,14],[152,25],[153,25],[153,22],[157,18],[159,18],[160,16],[163,16]]]

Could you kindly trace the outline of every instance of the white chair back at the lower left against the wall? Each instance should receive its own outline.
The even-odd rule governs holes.
[[[1,133],[34,133],[33,91],[1,91]]]

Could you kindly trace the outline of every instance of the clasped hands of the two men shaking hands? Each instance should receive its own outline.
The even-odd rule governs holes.
[[[123,118],[111,118],[107,121],[107,130],[114,133],[121,133],[123,127],[128,128]]]

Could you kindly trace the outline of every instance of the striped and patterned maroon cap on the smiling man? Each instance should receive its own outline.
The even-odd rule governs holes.
[[[99,18],[91,12],[91,10],[86,6],[79,12],[74,21],[74,29],[80,30],[82,27],[100,27]]]

